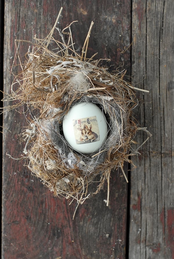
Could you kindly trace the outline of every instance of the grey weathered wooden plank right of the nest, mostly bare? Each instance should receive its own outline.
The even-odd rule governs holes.
[[[133,81],[150,91],[138,94],[135,117],[152,137],[131,173],[129,258],[174,258],[173,13],[172,0],[132,1]]]

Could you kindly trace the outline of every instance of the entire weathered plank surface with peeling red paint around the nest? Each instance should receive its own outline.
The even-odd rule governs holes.
[[[137,92],[134,115],[153,136],[133,158],[137,169],[130,179],[129,253],[125,255],[127,185],[120,174],[111,174],[109,207],[103,201],[105,189],[91,195],[72,220],[75,204],[53,198],[22,161],[6,156],[20,156],[25,126],[23,115],[10,111],[4,114],[4,127],[11,133],[4,129],[2,258],[174,258],[173,0],[5,1],[5,92],[12,82],[6,68],[12,65],[14,39],[45,37],[61,6],[60,28],[79,20],[72,27],[77,48],[93,20],[89,56],[99,52],[97,58],[110,58],[111,70],[122,63],[135,86],[150,91]],[[131,37],[131,55],[130,49],[121,54]],[[21,45],[24,54],[27,50]],[[140,144],[145,139],[138,132],[135,140]]]

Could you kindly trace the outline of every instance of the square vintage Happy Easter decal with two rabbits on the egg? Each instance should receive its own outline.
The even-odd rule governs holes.
[[[73,120],[76,144],[92,143],[100,140],[97,117]]]

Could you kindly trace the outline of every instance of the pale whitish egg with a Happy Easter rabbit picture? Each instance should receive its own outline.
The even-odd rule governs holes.
[[[64,116],[63,133],[74,150],[84,154],[96,152],[108,134],[104,113],[92,102],[75,104]]]

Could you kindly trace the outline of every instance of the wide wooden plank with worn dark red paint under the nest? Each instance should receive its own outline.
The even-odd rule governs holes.
[[[130,1],[9,1],[5,2],[4,91],[10,92],[14,39],[44,38],[55,23],[63,6],[60,28],[73,20],[76,48],[81,50],[91,21],[93,27],[88,56],[111,58],[112,70],[119,63],[130,71],[130,51],[120,53],[130,45]],[[106,8],[107,6],[107,8]],[[57,35],[56,35],[57,37]],[[120,50],[118,50],[120,49]],[[20,45],[25,55],[27,44]],[[19,71],[16,68],[16,72]],[[129,72],[128,72],[129,74]],[[26,125],[22,110],[4,114],[3,135],[3,229],[2,258],[125,258],[127,184],[121,172],[112,172],[110,203],[106,207],[107,186],[94,196],[97,183],[90,186],[90,198],[79,207],[54,198],[37,178],[23,167],[20,157],[23,144],[20,137]],[[125,167],[126,170],[126,167]]]

